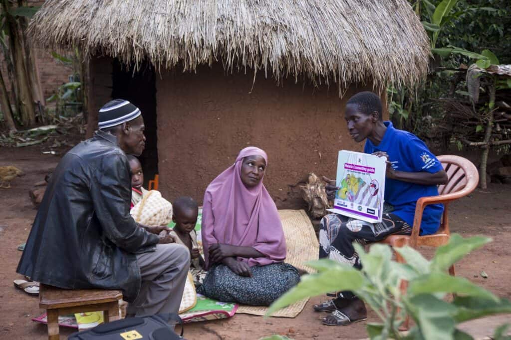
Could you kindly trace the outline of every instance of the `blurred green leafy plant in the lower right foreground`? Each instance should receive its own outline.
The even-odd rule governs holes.
[[[427,260],[410,247],[397,248],[406,264],[391,259],[388,246],[376,244],[367,253],[354,244],[363,268],[339,264],[328,259],[309,263],[316,274],[303,276],[300,283],[275,301],[267,315],[306,297],[332,291],[353,291],[378,315],[381,323],[367,324],[371,339],[471,339],[456,324],[494,313],[511,312],[511,302],[500,299],[463,277],[446,273],[471,251],[490,242],[485,237],[463,239],[453,234],[449,243],[438,247],[433,259]],[[407,280],[408,289],[401,293],[400,282]],[[456,294],[453,302],[444,300]],[[403,335],[398,328],[409,315],[415,326]]]

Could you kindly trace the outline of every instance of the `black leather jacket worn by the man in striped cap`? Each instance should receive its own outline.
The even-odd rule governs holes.
[[[135,253],[154,250],[158,237],[131,218],[130,187],[114,136],[98,131],[75,146],[52,175],[16,271],[61,288],[121,289],[133,301]]]

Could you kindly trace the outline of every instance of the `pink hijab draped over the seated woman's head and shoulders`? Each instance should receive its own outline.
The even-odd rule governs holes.
[[[223,243],[253,247],[265,257],[241,258],[249,266],[264,266],[286,258],[286,240],[277,207],[263,185],[253,188],[241,181],[241,165],[246,156],[259,155],[268,166],[268,156],[260,148],[249,146],[238,154],[236,162],[218,175],[204,194],[202,245],[206,268],[209,246]]]

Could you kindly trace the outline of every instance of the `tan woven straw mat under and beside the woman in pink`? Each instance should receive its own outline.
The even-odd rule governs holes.
[[[314,272],[312,268],[304,266],[307,261],[317,259],[319,253],[319,243],[309,217],[303,210],[279,210],[278,214],[281,216],[284,236],[286,237],[286,263],[304,269],[309,273]],[[304,309],[307,301],[309,301],[308,298],[295,302],[274,312],[272,316],[294,318]],[[263,316],[267,310],[268,307],[265,306],[240,305],[236,312]]]

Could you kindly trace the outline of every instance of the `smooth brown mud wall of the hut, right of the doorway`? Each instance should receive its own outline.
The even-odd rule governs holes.
[[[225,74],[221,67],[156,76],[159,190],[174,200],[202,202],[207,185],[249,145],[264,149],[264,183],[279,208],[297,208],[299,182],[309,172],[335,178],[337,151],[363,150],[346,131],[342,98],[333,85],[321,87],[258,74]]]

